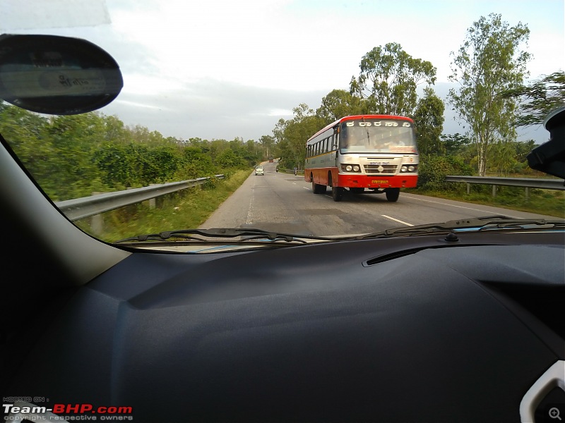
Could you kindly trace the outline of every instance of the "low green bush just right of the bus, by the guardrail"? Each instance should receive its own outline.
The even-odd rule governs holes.
[[[423,190],[453,191],[461,188],[460,184],[446,182],[447,175],[472,175],[472,168],[453,156],[420,157],[417,188]]]

